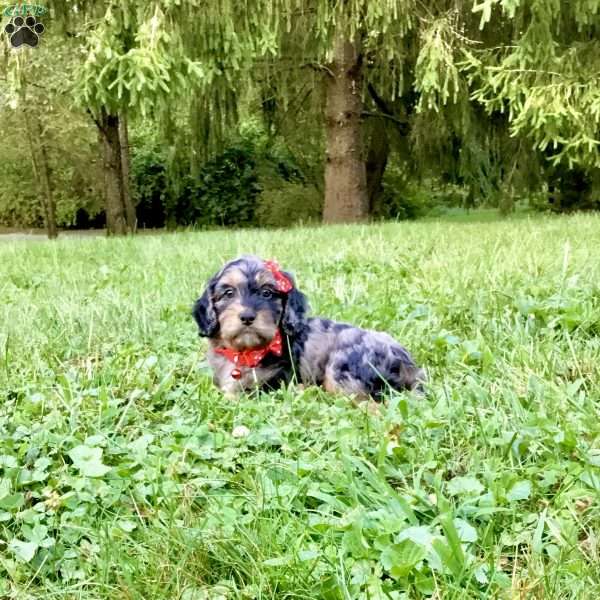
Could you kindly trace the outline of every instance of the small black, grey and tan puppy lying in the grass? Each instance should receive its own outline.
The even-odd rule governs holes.
[[[293,377],[358,399],[420,388],[425,377],[385,333],[308,317],[293,277],[256,256],[228,262],[196,301],[215,384],[227,395],[274,389]]]

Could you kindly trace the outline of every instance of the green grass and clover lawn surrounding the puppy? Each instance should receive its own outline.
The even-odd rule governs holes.
[[[598,598],[599,247],[598,216],[0,241],[0,597]],[[189,312],[248,252],[427,398],[224,400]]]

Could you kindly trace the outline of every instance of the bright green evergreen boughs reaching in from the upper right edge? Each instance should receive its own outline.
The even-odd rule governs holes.
[[[507,115],[510,136],[537,153],[559,195],[574,189],[585,206],[588,189],[600,206],[600,3],[486,0],[475,9],[484,31],[510,23],[514,43],[464,53],[473,99],[488,116]]]

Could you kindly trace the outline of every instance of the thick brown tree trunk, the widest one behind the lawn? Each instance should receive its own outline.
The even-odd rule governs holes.
[[[362,221],[369,209],[361,139],[362,57],[360,40],[349,41],[341,25],[335,36],[329,69],[323,220],[326,223]]]

